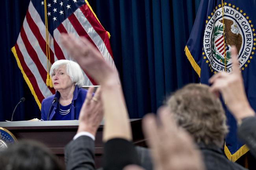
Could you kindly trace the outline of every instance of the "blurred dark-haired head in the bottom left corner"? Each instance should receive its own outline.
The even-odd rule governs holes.
[[[0,152],[0,170],[62,170],[56,157],[40,143],[20,141]]]

